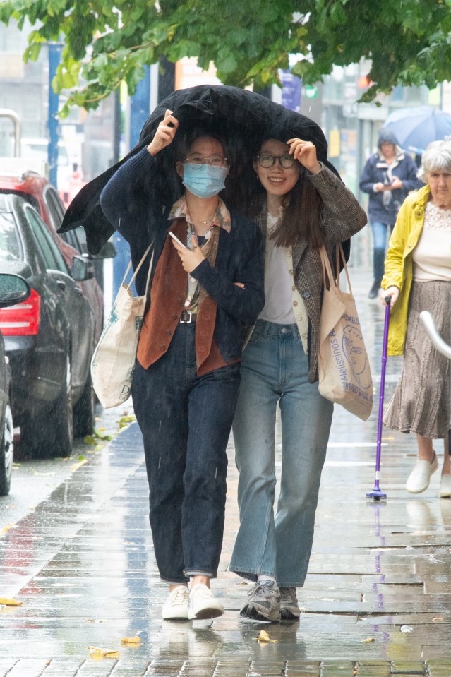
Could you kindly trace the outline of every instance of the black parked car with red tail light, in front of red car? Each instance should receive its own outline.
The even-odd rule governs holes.
[[[11,364],[12,410],[21,445],[37,456],[71,453],[73,431],[92,432],[92,308],[76,284],[92,275],[74,256],[68,270],[37,211],[20,196],[0,194],[0,272],[30,284],[28,301],[0,310]]]

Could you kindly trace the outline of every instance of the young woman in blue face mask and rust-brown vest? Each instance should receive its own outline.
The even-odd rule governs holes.
[[[168,620],[224,611],[210,579],[222,546],[226,447],[243,328],[264,301],[260,232],[218,196],[229,171],[223,145],[207,133],[177,143],[183,137],[178,129],[167,111],[148,147],[119,168],[101,195],[102,210],[130,244],[134,265],[155,241],[132,396],[143,433],[155,557],[169,583],[162,608]],[[157,156],[169,152],[174,138],[174,169],[185,190],[164,210],[146,178],[155,176]],[[155,181],[170,180],[157,172]],[[136,289],[143,294],[147,270],[140,273]]]

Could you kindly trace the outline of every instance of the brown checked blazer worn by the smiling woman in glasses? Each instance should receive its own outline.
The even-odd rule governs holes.
[[[310,174],[312,182],[323,199],[320,215],[321,227],[325,230],[325,248],[332,261],[335,244],[349,239],[365,226],[366,213],[353,193],[344,186],[323,163],[321,172]],[[266,239],[267,208],[254,219]],[[323,268],[319,250],[313,250],[307,241],[300,239],[292,247],[294,284],[301,294],[308,313],[308,381],[318,381],[318,335],[320,328],[321,301],[323,298]]]

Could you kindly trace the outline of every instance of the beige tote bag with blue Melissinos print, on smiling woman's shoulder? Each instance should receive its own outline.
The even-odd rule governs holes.
[[[318,389],[327,400],[342,405],[366,421],[373,408],[373,379],[342,246],[339,245],[339,251],[337,249],[336,270],[339,270],[341,256],[349,293],[339,288],[339,275],[335,280],[324,247],[320,249],[320,256],[324,292],[318,344]]]

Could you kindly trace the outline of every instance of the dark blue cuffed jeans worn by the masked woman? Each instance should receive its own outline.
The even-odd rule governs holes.
[[[149,369],[136,364],[133,407],[143,433],[150,526],[160,576],[217,575],[226,500],[227,442],[239,364],[196,373],[196,324],[177,326]]]

